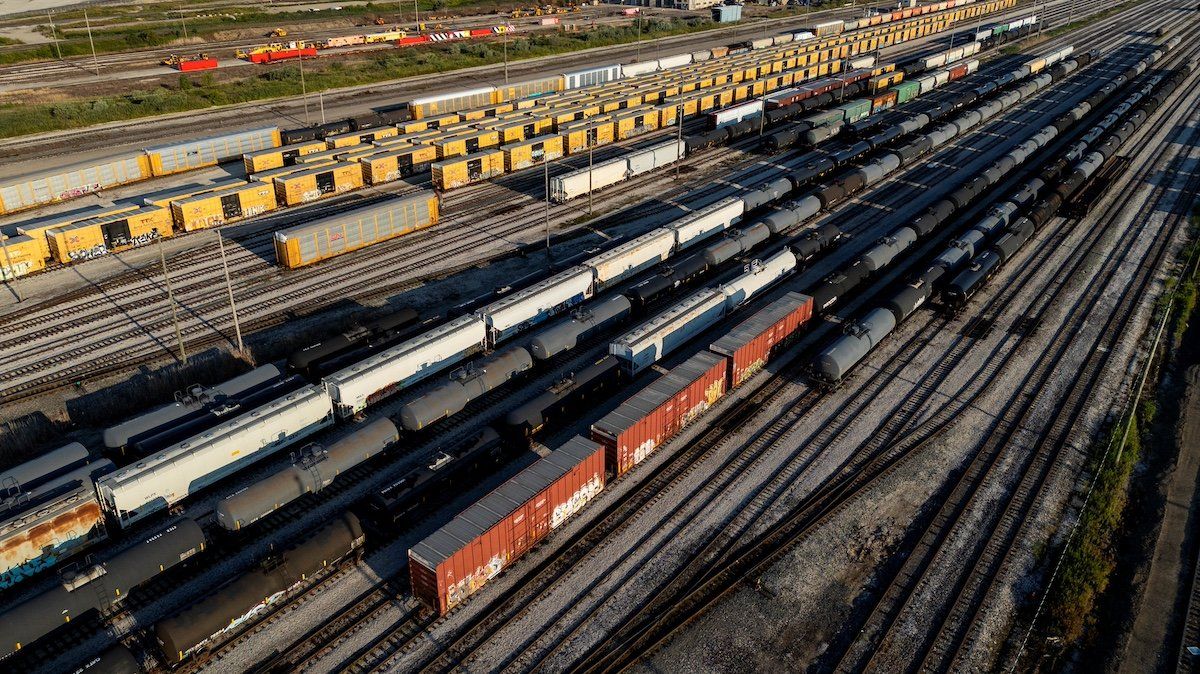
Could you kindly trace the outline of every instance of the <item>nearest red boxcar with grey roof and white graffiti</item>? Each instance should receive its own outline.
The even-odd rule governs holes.
[[[604,447],[572,438],[408,550],[413,596],[445,614],[604,491]]]

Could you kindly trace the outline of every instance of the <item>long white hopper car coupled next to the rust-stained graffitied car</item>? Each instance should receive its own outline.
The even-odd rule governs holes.
[[[304,386],[110,473],[96,488],[125,528],[332,423],[329,395]]]

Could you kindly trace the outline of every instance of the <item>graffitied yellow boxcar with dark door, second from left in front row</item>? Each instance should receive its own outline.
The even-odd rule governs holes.
[[[50,241],[50,254],[64,264],[144,246],[172,234],[170,209],[162,206],[143,206],[46,233]]]

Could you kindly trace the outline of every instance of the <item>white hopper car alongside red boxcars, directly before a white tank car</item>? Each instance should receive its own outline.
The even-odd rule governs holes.
[[[608,353],[637,374],[724,315],[725,294],[706,288],[622,335],[608,344]]]

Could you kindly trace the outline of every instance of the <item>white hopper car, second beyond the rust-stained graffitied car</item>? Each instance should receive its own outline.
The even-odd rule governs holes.
[[[457,318],[330,374],[325,390],[338,416],[355,415],[481,350],[486,336],[479,317]]]

